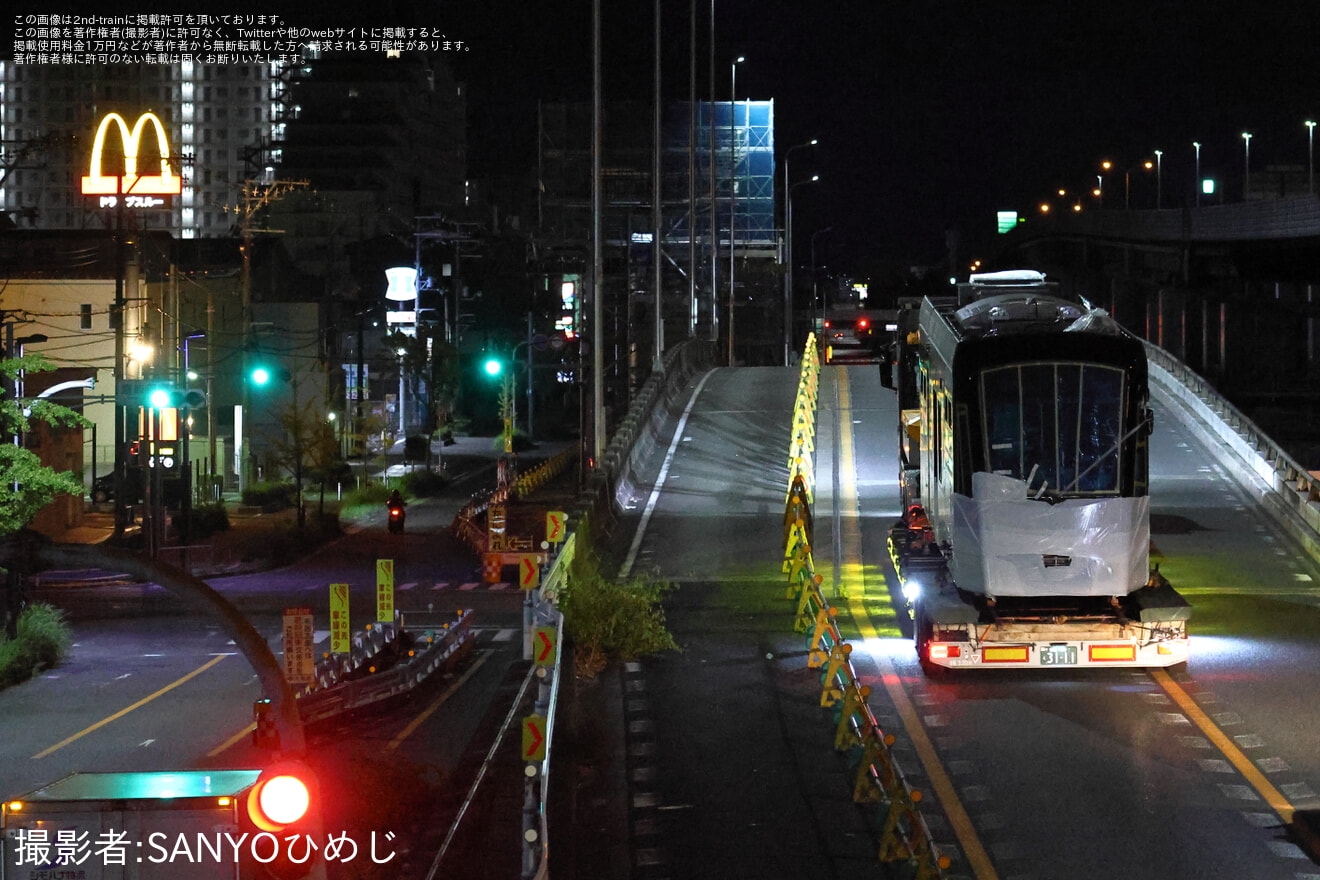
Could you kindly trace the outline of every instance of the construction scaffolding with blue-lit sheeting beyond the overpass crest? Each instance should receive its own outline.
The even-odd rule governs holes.
[[[721,339],[719,350],[726,351],[729,309],[734,303],[737,361],[781,363],[775,104],[700,102],[696,110],[694,139],[689,139],[692,104],[676,102],[663,115],[663,338],[668,343],[689,334]],[[688,199],[689,140],[694,153],[694,214]],[[543,104],[539,142],[543,263],[546,272],[581,272],[585,277],[591,253],[590,104]],[[651,107],[644,102],[607,106],[602,144],[602,330],[607,405],[616,409],[626,406],[645,380],[655,354]],[[689,241],[696,244],[696,265],[689,259]],[[693,274],[696,302],[689,284]]]

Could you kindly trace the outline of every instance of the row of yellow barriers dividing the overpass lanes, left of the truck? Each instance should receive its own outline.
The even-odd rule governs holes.
[[[793,404],[792,442],[788,453],[788,497],[784,503],[784,565],[787,598],[797,599],[793,629],[808,636],[807,665],[824,669],[821,698],[834,718],[834,748],[854,761],[853,801],[879,806],[879,859],[909,864],[917,880],[944,877],[949,856],[939,852],[931,829],[917,809],[921,792],[903,777],[884,734],[867,705],[871,689],[853,668],[853,646],[840,635],[838,610],[821,592],[824,578],[812,559],[810,454],[814,450],[820,359],[814,336],[807,340],[797,400]]]

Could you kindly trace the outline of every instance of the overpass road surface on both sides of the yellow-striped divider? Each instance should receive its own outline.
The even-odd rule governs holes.
[[[678,583],[682,648],[623,679],[634,877],[876,871],[777,574],[793,385],[783,369],[711,373],[659,495],[634,499],[632,528],[651,509],[636,570]],[[1193,604],[1189,672],[928,679],[884,549],[892,392],[875,367],[832,367],[820,398],[817,571],[849,592],[854,662],[927,793],[948,876],[1320,877],[1286,825],[1320,807],[1320,573],[1263,519],[1261,487],[1156,397],[1152,561]]]

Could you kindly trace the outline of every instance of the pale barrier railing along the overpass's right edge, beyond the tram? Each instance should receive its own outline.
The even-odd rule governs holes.
[[[1151,380],[1203,425],[1191,425],[1216,453],[1230,451],[1270,488],[1263,503],[1274,517],[1320,559],[1320,479],[1224,398],[1191,367],[1146,343]]]

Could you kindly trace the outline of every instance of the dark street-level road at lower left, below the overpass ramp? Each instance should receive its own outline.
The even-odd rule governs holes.
[[[385,533],[381,513],[296,566],[210,582],[277,656],[286,606],[314,610],[318,648],[326,648],[330,583],[351,586],[354,631],[374,620],[378,558],[395,559],[405,617],[474,610],[477,646],[465,665],[384,711],[309,731],[326,825],[356,839],[393,831],[393,867],[418,873],[470,784],[470,747],[487,748],[491,718],[503,719],[523,666],[521,591],[480,582],[474,554],[445,532],[474,488],[411,504],[403,536]],[[75,643],[59,668],[0,691],[0,796],[73,770],[269,763],[249,735],[260,686],[216,624],[154,586],[50,588],[37,598],[70,611]],[[508,852],[516,868],[516,847]]]

